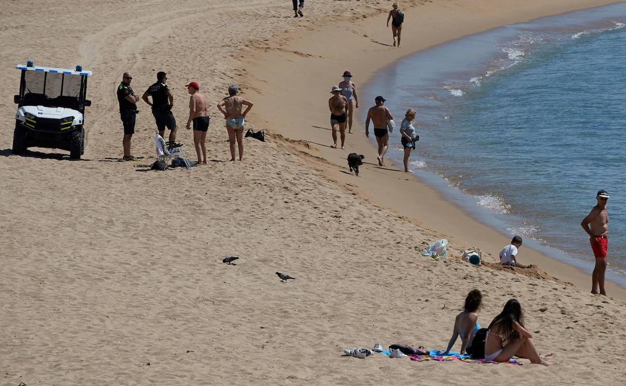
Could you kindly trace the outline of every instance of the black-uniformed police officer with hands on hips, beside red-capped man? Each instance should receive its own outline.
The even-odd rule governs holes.
[[[152,97],[152,102],[150,102],[148,96]],[[174,114],[172,114],[174,96],[167,87],[167,74],[163,71],[156,73],[156,83],[148,87],[141,99],[152,106],[152,115],[155,116],[159,135],[163,136],[165,134],[165,127],[167,126],[170,129],[168,141],[176,141],[176,119],[174,119]]]

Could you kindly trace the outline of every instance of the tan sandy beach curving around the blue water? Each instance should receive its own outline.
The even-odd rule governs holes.
[[[361,86],[420,49],[608,3],[406,1],[397,49],[384,25],[391,2],[307,2],[298,19],[290,3],[267,0],[61,0],[28,15],[9,2],[0,11],[0,81],[9,89],[0,113],[11,118],[0,129],[3,384],[618,383],[623,288],[593,296],[588,275],[528,248],[524,262],[540,269],[498,268],[510,236],[399,169],[375,167],[360,126],[344,151],[329,148],[327,130],[328,91],[345,69]],[[28,59],[93,71],[83,161],[49,149],[11,155],[13,68]],[[179,124],[188,81],[214,104],[238,84],[255,103],[249,127],[264,129],[267,142],[246,140],[245,161],[227,162],[213,109],[208,166],[149,171],[154,121],[140,104],[133,153],[146,158],[116,162],[121,74],[130,71],[143,93],[161,70]],[[178,133],[193,152],[191,132]],[[369,162],[359,178],[346,173],[351,152]],[[439,238],[451,256],[420,255]],[[485,265],[459,259],[468,246],[483,250]],[[228,255],[240,256],[237,265],[221,262]],[[296,280],[281,283],[275,272]],[[444,348],[472,288],[485,295],[483,325],[520,300],[537,347],[558,365],[342,356],[374,342]]]

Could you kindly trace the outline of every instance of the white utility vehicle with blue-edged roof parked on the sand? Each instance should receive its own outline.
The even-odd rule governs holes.
[[[85,107],[87,77],[91,71],[18,65],[22,71],[13,133],[13,154],[27,148],[63,149],[69,158],[80,159],[85,152]]]

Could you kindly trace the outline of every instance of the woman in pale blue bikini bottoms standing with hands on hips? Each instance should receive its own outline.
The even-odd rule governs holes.
[[[235,160],[235,138],[239,146],[239,161],[244,160],[244,124],[245,115],[252,108],[252,102],[242,98],[239,94],[237,86],[228,88],[228,96],[217,104],[217,109],[224,114],[226,119],[226,131],[228,131],[228,141],[230,141],[230,160]],[[241,106],[247,108],[241,112]]]

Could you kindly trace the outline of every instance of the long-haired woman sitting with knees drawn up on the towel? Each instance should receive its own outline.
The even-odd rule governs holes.
[[[493,318],[485,339],[485,360],[507,362],[513,356],[530,359],[531,363],[548,366],[549,362],[537,352],[531,339],[533,334],[524,327],[521,305],[515,299],[505,304],[500,315]]]

